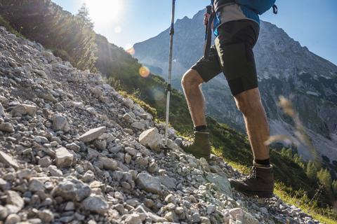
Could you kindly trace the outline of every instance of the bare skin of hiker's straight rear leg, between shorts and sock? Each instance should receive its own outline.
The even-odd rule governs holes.
[[[258,88],[239,93],[234,99],[244,115],[254,159],[269,159],[269,146],[265,145],[265,141],[269,138],[269,127]]]

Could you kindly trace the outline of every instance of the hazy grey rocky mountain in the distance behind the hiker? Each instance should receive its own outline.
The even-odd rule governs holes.
[[[192,19],[177,20],[173,38],[172,85],[181,89],[183,73],[203,54],[204,10]],[[166,78],[169,56],[169,29],[134,45],[138,60]],[[337,171],[337,66],[310,52],[290,38],[283,29],[261,21],[260,37],[254,48],[259,88],[270,120],[271,134],[293,135],[291,118],[278,108],[279,95],[291,97],[323,162]],[[161,70],[160,70],[161,69]],[[223,75],[202,86],[206,113],[221,123],[244,131],[244,120],[237,110]],[[298,143],[298,153],[312,160],[308,147]],[[285,144],[285,146],[289,146]]]

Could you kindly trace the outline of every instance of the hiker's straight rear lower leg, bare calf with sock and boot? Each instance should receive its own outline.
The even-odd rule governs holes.
[[[253,149],[254,162],[251,172],[242,179],[229,179],[230,186],[246,195],[272,197],[274,192],[274,168],[269,164],[269,147],[265,141],[269,137],[267,116],[263,108],[258,88],[234,95],[237,107],[244,115],[246,129]],[[256,161],[258,160],[258,161]]]

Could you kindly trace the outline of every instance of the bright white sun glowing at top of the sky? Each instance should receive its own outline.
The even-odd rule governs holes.
[[[93,22],[117,20],[123,10],[122,0],[86,0],[86,5]]]

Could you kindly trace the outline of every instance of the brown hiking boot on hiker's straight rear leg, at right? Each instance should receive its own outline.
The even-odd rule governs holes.
[[[245,195],[272,197],[274,192],[273,167],[265,167],[254,163],[249,175],[242,179],[229,179],[232,188]]]

